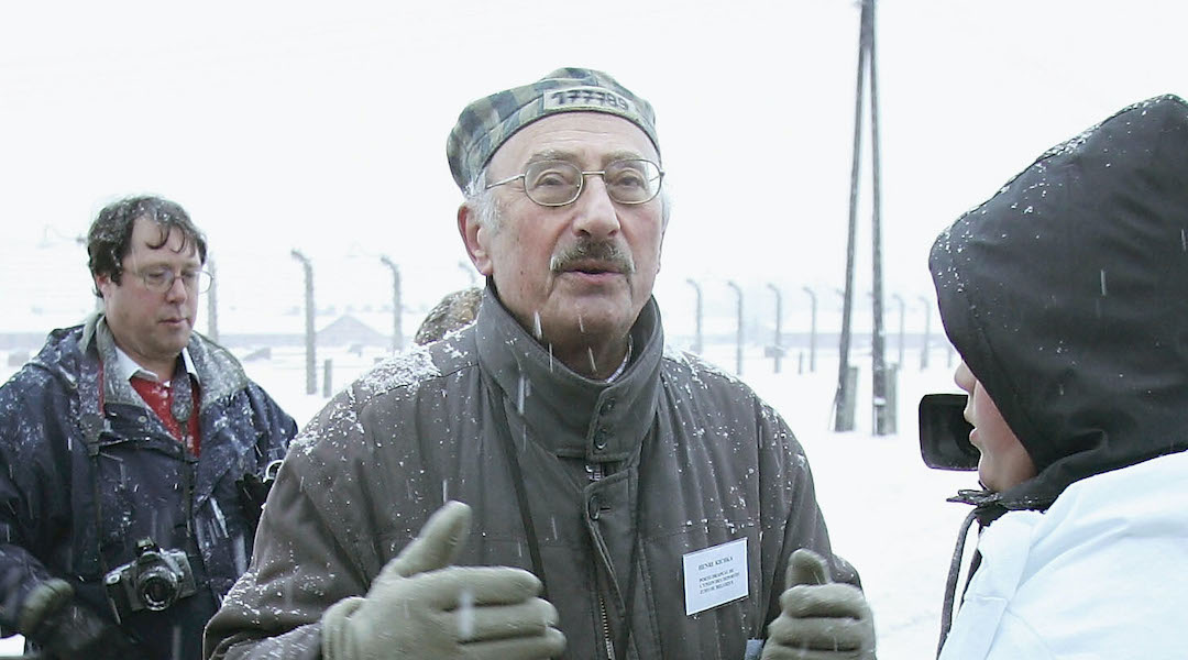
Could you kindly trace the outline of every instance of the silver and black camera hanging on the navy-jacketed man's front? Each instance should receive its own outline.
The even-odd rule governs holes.
[[[160,611],[197,590],[185,552],[162,550],[147,538],[137,541],[137,558],[112,569],[103,584],[120,620],[134,611]]]

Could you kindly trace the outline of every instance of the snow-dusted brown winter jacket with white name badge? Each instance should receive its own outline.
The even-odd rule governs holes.
[[[630,658],[741,659],[779,614],[798,547],[832,558],[834,577],[857,584],[832,554],[808,462],[776,412],[700,360],[665,353],[655,302],[632,338],[636,355],[618,379],[584,379],[488,290],[475,325],[339,394],[293,442],[252,565],[207,629],[207,653],[321,658],[326,609],[365,595],[444,500],[474,509],[457,564],[532,570],[508,445],[567,659],[606,658],[628,609]],[[499,417],[510,433],[493,430]],[[682,556],[741,538],[748,595],[687,615]]]

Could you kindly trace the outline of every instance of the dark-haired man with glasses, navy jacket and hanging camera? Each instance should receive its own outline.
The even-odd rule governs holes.
[[[159,197],[87,250],[103,311],[0,387],[0,627],[46,658],[196,659],[297,425],[194,332],[207,242]]]

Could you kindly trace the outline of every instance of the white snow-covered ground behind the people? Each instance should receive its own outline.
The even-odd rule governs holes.
[[[331,360],[333,388],[341,388],[381,356],[378,351],[322,350],[317,361],[321,368],[324,360]],[[707,357],[733,369],[731,345],[715,347]],[[836,355],[819,354],[816,372],[802,374],[795,356],[784,360],[781,374],[773,374],[771,360],[762,357],[758,349],[744,363],[742,380],[783,414],[808,452],[834,548],[862,576],[874,611],[880,660],[935,655],[944,576],[958,527],[967,513],[963,506],[944,499],[975,483],[972,474],[929,470],[920,459],[916,405],[921,395],[956,388],[953,368],[940,349],[928,370],[917,368],[918,360],[918,353],[908,355],[909,368],[899,375],[898,433],[893,436],[871,434],[868,356],[851,356],[860,374],[857,429],[848,433],[829,431]],[[326,402],[321,374],[318,393],[305,394],[299,349],[273,349],[271,360],[246,362],[245,367],[299,424]],[[13,370],[7,355],[0,353],[0,380],[7,380]],[[17,639],[0,641],[0,656],[19,651]]]

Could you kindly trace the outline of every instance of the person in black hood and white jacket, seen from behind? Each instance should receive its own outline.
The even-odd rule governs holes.
[[[1188,106],[1150,99],[1049,150],[929,267],[985,486],[954,499],[981,533],[940,658],[1182,658]]]

